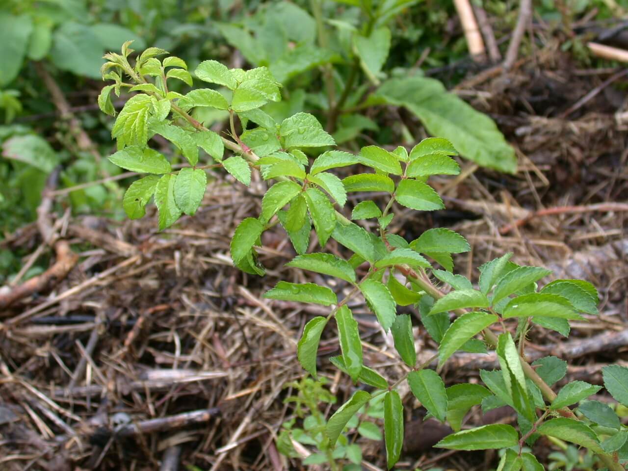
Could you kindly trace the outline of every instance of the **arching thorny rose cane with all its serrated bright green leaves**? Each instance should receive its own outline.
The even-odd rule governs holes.
[[[126,170],[144,173],[124,195],[123,206],[131,219],[143,217],[151,198],[158,209],[160,230],[174,224],[181,214],[193,215],[203,200],[208,169],[224,168],[244,185],[259,172],[269,188],[261,214],[242,220],[231,241],[231,256],[239,269],[264,275],[255,251],[261,235],[279,224],[298,253],[286,266],[313,271],[333,278],[335,286],[350,286],[338,300],[328,286],[314,283],[279,283],[264,295],[274,300],[298,301],[329,306],[327,316],[318,316],[305,326],[298,342],[298,360],[313,377],[317,374],[318,342],[325,328],[335,328],[341,355],[335,367],[362,384],[325,421],[317,447],[327,452],[365,404],[383,396],[384,439],[387,465],[398,461],[403,445],[403,404],[397,387],[404,381],[434,418],[455,431],[436,445],[454,450],[505,448],[500,469],[543,469],[524,445],[533,445],[546,435],[587,447],[609,470],[624,469],[628,459],[628,428],[614,409],[597,401],[584,401],[600,386],[583,381],[566,384],[558,393],[552,385],[566,372],[566,362],[545,357],[528,364],[523,352],[526,333],[533,325],[556,330],[565,337],[570,320],[582,314],[597,314],[598,295],[592,284],[559,279],[539,288],[549,270],[519,266],[504,254],[480,266],[477,286],[453,273],[452,254],[470,249],[464,237],[448,229],[434,228],[413,241],[389,231],[394,225],[394,204],[416,211],[443,208],[438,193],[426,183],[431,175],[457,175],[457,151],[445,139],[428,138],[409,153],[403,147],[387,151],[367,146],[355,155],[335,149],[335,142],[307,113],[297,113],[281,122],[261,108],[281,99],[281,84],[265,67],[229,69],[214,60],[200,63],[194,72],[214,88],[194,89],[183,95],[168,90],[171,80],[192,86],[187,65],[159,48],[148,48],[132,65],[129,43],[122,53],[109,53],[102,75],[112,80],[99,96],[102,111],[115,116],[112,92],[138,92],[127,100],[112,127],[118,151],[109,158]],[[159,57],[164,57],[160,59]],[[230,136],[219,136],[193,117],[195,109],[209,107],[228,112]],[[239,119],[241,135],[234,122]],[[188,165],[173,170],[170,161],[148,145],[160,135],[170,141]],[[199,165],[199,148],[215,163]],[[230,156],[225,156],[225,148]],[[337,168],[365,166],[371,170],[340,180]],[[344,207],[349,192],[387,195],[386,205],[364,199]],[[369,232],[354,221],[373,219]],[[315,233],[320,252],[306,253]],[[333,239],[345,247],[347,257],[324,252]],[[435,265],[440,269],[434,268]],[[448,285],[445,294],[435,286]],[[391,332],[394,346],[406,372],[387,379],[364,365],[359,325],[348,301],[364,297],[384,332]],[[398,315],[397,306],[414,305],[427,332],[439,345],[435,359],[418,364],[409,315]],[[335,320],[334,323],[330,322]],[[511,333],[512,332],[512,333]],[[482,337],[480,340],[477,336]],[[501,369],[479,371],[484,382],[445,387],[439,372],[458,350],[486,352],[495,349]],[[436,371],[431,360],[438,360]],[[607,391],[628,406],[628,369],[609,365],[603,369]],[[574,412],[568,406],[580,403]],[[462,419],[474,405],[484,411],[509,405],[517,412],[518,430],[505,424],[461,430]],[[335,460],[333,453],[325,456]],[[335,464],[334,464],[335,466]]]

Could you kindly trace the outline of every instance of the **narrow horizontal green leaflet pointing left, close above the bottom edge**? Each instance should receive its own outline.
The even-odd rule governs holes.
[[[519,444],[519,435],[510,425],[484,425],[448,435],[434,445],[449,450],[494,450],[514,447]]]

